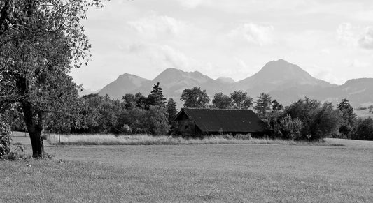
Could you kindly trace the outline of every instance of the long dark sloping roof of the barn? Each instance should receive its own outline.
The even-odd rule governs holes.
[[[264,132],[264,123],[252,110],[221,110],[183,108],[175,118],[181,120],[183,114],[202,132],[259,133]]]

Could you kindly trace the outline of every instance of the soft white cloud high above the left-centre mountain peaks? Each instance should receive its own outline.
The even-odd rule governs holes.
[[[182,22],[167,15],[143,17],[128,24],[146,38],[177,36],[189,26],[188,22]]]

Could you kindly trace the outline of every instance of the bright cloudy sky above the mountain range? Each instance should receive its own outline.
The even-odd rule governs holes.
[[[85,89],[166,68],[238,81],[277,59],[335,84],[373,77],[372,0],[111,0],[87,17],[91,61],[71,72]]]

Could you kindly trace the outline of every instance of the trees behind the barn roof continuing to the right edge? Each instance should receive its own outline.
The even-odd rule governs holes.
[[[246,92],[234,91],[230,95],[216,93],[211,104],[206,91],[199,87],[185,89],[181,95],[183,107],[253,109],[265,121],[267,135],[286,140],[322,140],[338,137],[354,140],[373,140],[373,119],[360,119],[353,112],[349,100],[337,107],[332,103],[304,98],[284,107],[267,93],[256,100]]]

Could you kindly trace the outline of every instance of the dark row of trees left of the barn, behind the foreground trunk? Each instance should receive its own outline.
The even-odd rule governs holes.
[[[66,105],[66,104],[65,104]],[[176,116],[176,103],[166,101],[160,84],[148,96],[127,93],[122,100],[90,94],[76,98],[64,111],[48,112],[45,131],[60,134],[148,134],[167,135],[171,118]],[[23,113],[17,105],[1,114],[12,130],[23,131]]]

